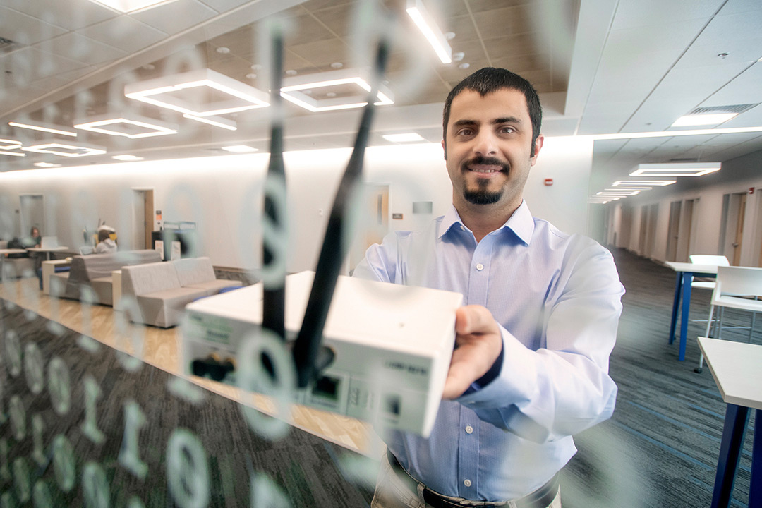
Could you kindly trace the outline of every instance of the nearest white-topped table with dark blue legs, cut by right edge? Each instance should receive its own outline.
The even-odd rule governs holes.
[[[749,408],[754,416],[754,448],[751,454],[749,508],[762,506],[762,346],[699,337],[699,347],[722,400],[728,404],[719,449],[717,475],[712,492],[712,508],[730,504],[735,471],[744,446]]]

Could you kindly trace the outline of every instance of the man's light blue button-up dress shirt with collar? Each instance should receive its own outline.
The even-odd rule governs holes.
[[[531,216],[526,203],[476,242],[455,207],[421,232],[371,246],[355,276],[463,293],[501,324],[498,377],[442,401],[431,436],[384,432],[431,490],[511,500],[541,487],[576,448],[571,435],[611,416],[608,375],[624,288],[609,251]]]

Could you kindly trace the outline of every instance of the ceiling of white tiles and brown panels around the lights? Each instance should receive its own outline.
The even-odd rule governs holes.
[[[762,130],[659,135],[697,107],[747,105],[719,126],[762,126],[762,2],[758,0],[424,0],[457,61],[443,64],[405,14],[405,0],[174,0],[120,14],[91,0],[0,0],[0,139],[26,145],[50,134],[8,126],[132,112],[178,125],[142,139],[79,130],[76,142],[107,153],[82,158],[0,154],[0,171],[34,163],[114,162],[114,155],[219,155],[223,145],[267,151],[272,108],[221,115],[230,131],[124,97],[124,86],[208,68],[262,91],[274,16],[287,27],[284,78],[370,65],[373,33],[392,42],[384,84],[395,104],[378,108],[381,134],[413,130],[441,139],[441,104],[460,79],[483,66],[518,72],[539,91],[546,136],[599,136],[591,190],[640,163],[727,161],[762,149]],[[378,4],[378,5],[376,5]],[[562,5],[559,7],[559,4]],[[462,55],[458,55],[462,53]],[[315,98],[330,89],[315,89]],[[335,89],[341,97],[345,89]],[[285,105],[286,149],[351,146],[359,110],[310,113]],[[680,128],[686,130],[691,128]],[[622,139],[604,139],[618,134]],[[63,138],[56,136],[57,139]],[[608,136],[609,138],[612,136]],[[9,150],[21,152],[18,149]]]

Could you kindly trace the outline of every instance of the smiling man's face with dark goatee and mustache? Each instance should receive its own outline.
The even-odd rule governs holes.
[[[530,155],[532,123],[520,91],[502,89],[482,97],[464,90],[453,99],[444,146],[457,209],[480,205],[485,208],[479,211],[513,212],[521,204],[543,136]]]

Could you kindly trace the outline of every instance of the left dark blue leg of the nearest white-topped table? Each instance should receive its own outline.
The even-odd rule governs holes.
[[[730,505],[735,471],[741,459],[741,449],[744,446],[744,435],[750,414],[748,407],[735,404],[728,404],[728,409],[725,411],[725,427],[722,429],[722,443],[719,446],[712,508],[728,508]],[[751,504],[749,506],[751,507]]]

